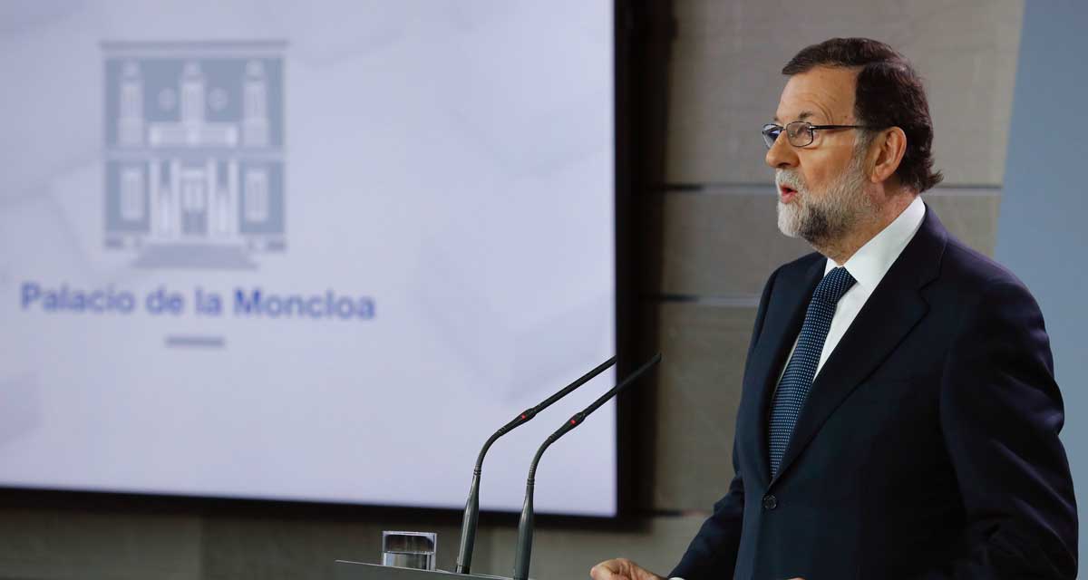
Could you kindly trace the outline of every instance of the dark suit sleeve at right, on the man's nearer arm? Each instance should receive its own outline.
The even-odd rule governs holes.
[[[1075,578],[1077,516],[1050,342],[1018,282],[967,308],[941,378],[940,422],[967,525],[925,580]]]

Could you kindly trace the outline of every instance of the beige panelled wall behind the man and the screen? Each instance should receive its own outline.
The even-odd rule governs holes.
[[[945,174],[926,199],[954,234],[993,251],[1023,0],[677,0],[672,11],[664,184],[640,196],[660,227],[657,263],[640,264],[659,272],[641,306],[667,357],[647,395],[657,427],[640,482],[646,518],[622,531],[540,530],[537,578],[584,577],[613,555],[666,572],[728,484],[759,289],[776,266],[808,251],[775,227],[757,135],[784,84],[778,71],[798,49],[870,36],[915,62]],[[4,507],[0,578],[329,578],[335,558],[374,559],[380,531],[397,527],[438,531],[440,566],[452,567],[453,525]],[[512,527],[484,527],[477,570],[508,573],[515,536]]]

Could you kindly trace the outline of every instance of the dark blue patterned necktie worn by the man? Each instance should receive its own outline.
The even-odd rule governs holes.
[[[770,477],[778,474],[778,467],[786,454],[786,445],[790,443],[793,425],[798,422],[801,408],[808,398],[808,390],[816,377],[816,367],[827,341],[827,331],[831,328],[834,307],[839,298],[854,285],[854,276],[845,268],[839,267],[824,276],[813,293],[805,312],[805,322],[801,325],[798,346],[786,366],[786,372],[778,382],[775,392],[775,403],[770,409]]]

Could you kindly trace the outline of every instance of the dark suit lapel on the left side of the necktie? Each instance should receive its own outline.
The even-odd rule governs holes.
[[[770,481],[770,458],[767,442],[767,429],[770,417],[771,394],[778,383],[778,377],[786,366],[794,338],[801,332],[805,319],[805,309],[812,299],[816,284],[824,277],[826,260],[817,259],[813,264],[794,272],[781,272],[775,281],[769,304],[775,308],[767,310],[758,342],[752,351],[752,380],[750,385],[756,390],[756,406],[749,417],[754,417],[752,424],[755,433],[750,435],[756,441],[756,456],[759,464],[761,483],[765,486]]]

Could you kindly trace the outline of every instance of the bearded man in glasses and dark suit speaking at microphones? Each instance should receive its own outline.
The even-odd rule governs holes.
[[[778,225],[818,254],[764,288],[735,477],[670,576],[1075,578],[1042,317],[919,198],[941,176],[917,74],[861,38],[782,72],[764,127]],[[627,559],[591,576],[657,578]]]

